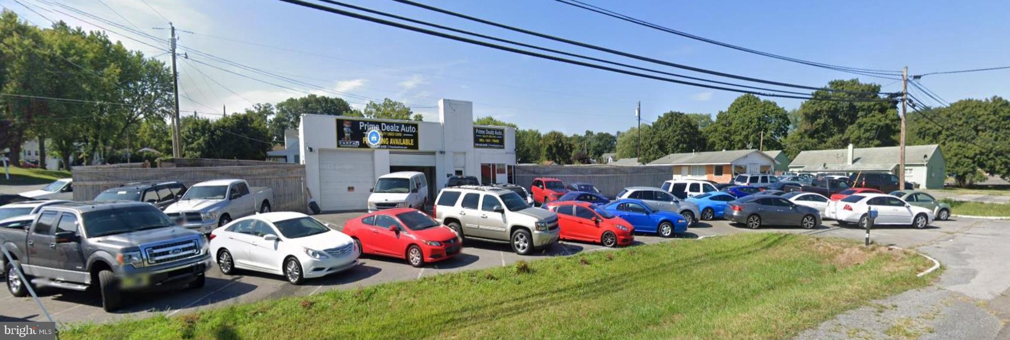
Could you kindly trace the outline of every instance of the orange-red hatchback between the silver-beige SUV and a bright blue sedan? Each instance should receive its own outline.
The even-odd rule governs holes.
[[[601,243],[608,247],[634,242],[631,223],[595,204],[564,201],[550,203],[547,209],[558,213],[563,240]]]

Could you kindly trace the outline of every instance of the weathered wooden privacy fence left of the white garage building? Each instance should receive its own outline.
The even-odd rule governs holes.
[[[308,211],[305,165],[261,160],[175,158],[160,167],[141,163],[76,166],[74,200],[93,200],[102,191],[131,182],[179,181],[187,187],[210,180],[245,180],[251,187],[274,190],[275,211]]]

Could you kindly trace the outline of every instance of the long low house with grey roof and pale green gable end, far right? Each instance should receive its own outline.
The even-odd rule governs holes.
[[[802,151],[789,164],[803,173],[888,173],[898,175],[898,146]],[[924,189],[942,189],[946,161],[937,144],[905,146],[905,181]]]

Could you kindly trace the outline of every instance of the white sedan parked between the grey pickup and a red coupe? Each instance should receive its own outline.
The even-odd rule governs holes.
[[[240,218],[210,233],[210,250],[224,274],[248,269],[305,278],[349,269],[361,249],[349,236],[301,213],[266,213]]]

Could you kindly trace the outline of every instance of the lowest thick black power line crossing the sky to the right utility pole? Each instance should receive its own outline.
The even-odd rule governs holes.
[[[399,22],[393,22],[393,21],[379,19],[379,18],[375,18],[375,17],[363,15],[363,14],[348,12],[348,11],[344,11],[344,10],[340,10],[340,9],[336,9],[336,8],[325,7],[325,6],[321,6],[321,5],[317,5],[317,4],[313,4],[313,3],[308,3],[308,2],[300,1],[300,0],[280,0],[280,1],[284,1],[284,2],[287,2],[287,3],[291,3],[291,4],[303,6],[303,7],[308,7],[308,8],[313,8],[313,9],[317,9],[317,10],[322,10],[322,11],[326,11],[326,12],[330,12],[330,13],[334,13],[334,14],[339,14],[339,15],[343,15],[343,16],[348,16],[348,17],[352,17],[352,18],[358,18],[358,19],[362,19],[362,20],[366,20],[366,21],[372,21],[372,22],[376,22],[376,23],[380,23],[380,24],[384,24],[384,25],[388,25],[388,26],[394,26],[394,27],[403,28],[403,29],[407,29],[407,30],[412,30],[412,31],[420,32],[420,33],[425,33],[425,34],[428,34],[428,35],[434,35],[434,36],[444,37],[444,38],[448,38],[448,39],[452,39],[452,40],[468,42],[468,43],[472,43],[472,44],[483,45],[483,46],[491,47],[491,48],[495,48],[495,49],[501,49],[501,50],[505,50],[505,51],[511,51],[511,52],[520,53],[520,54],[526,54],[526,55],[530,55],[530,56],[536,56],[536,58],[551,60],[551,61],[556,61],[556,62],[562,62],[562,63],[567,63],[567,64],[572,64],[572,65],[578,65],[578,66],[583,66],[583,67],[588,67],[588,68],[593,68],[593,69],[598,69],[598,70],[610,71],[610,72],[614,72],[614,73],[620,73],[620,74],[625,74],[625,75],[630,75],[630,76],[637,76],[637,77],[641,77],[641,78],[648,78],[648,79],[653,79],[653,80],[659,80],[659,81],[665,81],[665,82],[670,82],[670,83],[676,83],[676,84],[682,84],[682,85],[691,85],[691,86],[696,86],[696,87],[701,87],[701,88],[708,88],[708,89],[715,89],[715,90],[724,90],[724,91],[737,92],[737,93],[748,93],[748,94],[753,94],[753,95],[758,95],[758,96],[766,96],[766,97],[794,98],[794,99],[804,99],[804,100],[818,99],[818,100],[825,100],[825,101],[845,101],[845,102],[852,102],[852,101],[856,101],[856,102],[886,101],[885,99],[834,99],[834,98],[812,98],[812,97],[805,97],[805,96],[804,97],[800,97],[800,96],[790,96],[790,95],[781,95],[781,94],[761,93],[761,92],[749,91],[749,90],[731,89],[731,88],[718,87],[718,86],[712,86],[712,85],[707,85],[707,84],[685,82],[685,81],[679,81],[679,80],[674,80],[674,79],[670,79],[670,78],[663,78],[663,77],[658,77],[658,76],[652,76],[652,75],[640,74],[640,73],[631,72],[631,71],[627,71],[627,70],[614,69],[614,68],[600,66],[600,65],[595,65],[595,64],[590,64],[590,63],[584,63],[584,62],[579,62],[579,61],[568,60],[568,59],[564,59],[564,58],[560,58],[560,56],[556,56],[556,55],[542,54],[542,53],[538,53],[538,52],[534,52],[534,51],[529,51],[529,50],[519,49],[519,48],[513,48],[513,47],[499,45],[499,44],[494,44],[494,43],[490,43],[490,42],[486,42],[486,41],[481,41],[481,40],[475,40],[475,39],[466,38],[466,37],[462,37],[462,36],[458,36],[458,35],[452,35],[452,34],[448,34],[448,33],[443,33],[443,32],[433,31],[433,30],[424,29],[424,28],[420,28],[420,27],[415,27],[415,26],[411,26],[411,25],[407,25],[407,24],[403,24],[403,23],[399,23]],[[394,1],[398,1],[398,0],[394,0]],[[816,90],[824,90],[824,89],[816,89]],[[861,94],[865,94],[865,93],[861,93]]]

